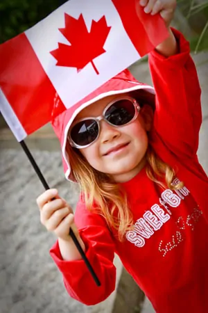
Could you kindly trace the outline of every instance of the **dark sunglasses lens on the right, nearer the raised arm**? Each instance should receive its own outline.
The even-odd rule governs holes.
[[[135,106],[128,99],[121,99],[112,104],[105,112],[105,118],[112,125],[121,126],[135,117]]]

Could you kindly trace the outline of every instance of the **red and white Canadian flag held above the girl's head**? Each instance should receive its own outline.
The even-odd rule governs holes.
[[[135,0],[71,0],[0,45],[0,108],[17,141],[135,63],[167,36]]]

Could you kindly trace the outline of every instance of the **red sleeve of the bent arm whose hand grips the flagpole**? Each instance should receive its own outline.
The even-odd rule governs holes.
[[[105,220],[87,210],[81,201],[76,208],[75,223],[85,243],[86,256],[101,286],[96,285],[83,260],[62,259],[58,241],[51,248],[50,253],[63,275],[69,295],[85,305],[95,305],[105,300],[115,289],[114,243]]]

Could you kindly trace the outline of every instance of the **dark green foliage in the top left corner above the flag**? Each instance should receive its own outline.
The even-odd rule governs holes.
[[[1,0],[0,43],[40,22],[64,2],[62,0]]]

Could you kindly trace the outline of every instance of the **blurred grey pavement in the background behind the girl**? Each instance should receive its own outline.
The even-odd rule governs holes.
[[[208,51],[193,55],[202,88],[203,122],[198,158],[208,173]],[[148,65],[135,63],[132,74],[151,83]],[[49,185],[75,209],[78,190],[64,179],[60,145],[51,125],[26,139]],[[153,307],[115,258],[116,291],[103,303],[89,306],[67,295],[49,256],[55,241],[40,224],[35,198],[43,191],[30,163],[0,119],[0,307],[1,313],[153,313]]]

